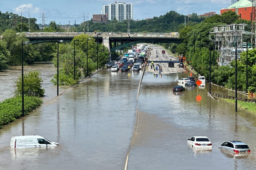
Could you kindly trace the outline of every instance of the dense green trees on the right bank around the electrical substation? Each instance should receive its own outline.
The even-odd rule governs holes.
[[[235,88],[235,61],[230,63],[230,66],[217,66],[219,54],[213,50],[213,43],[209,40],[209,32],[211,28],[217,25],[231,23],[246,23],[251,25],[250,21],[241,20],[236,12],[225,12],[222,15],[215,15],[205,19],[203,22],[193,26],[186,26],[179,29],[181,44],[163,44],[165,48],[169,48],[171,52],[183,54],[186,57],[186,62],[197,71],[198,74],[209,79],[209,49],[211,43],[211,81],[220,86],[225,86],[230,89]],[[248,30],[250,31],[250,30]],[[201,38],[200,38],[201,35]],[[195,45],[195,49],[194,49]],[[201,46],[200,46],[201,45]],[[200,51],[201,47],[201,51]],[[194,52],[195,50],[195,52]],[[215,58],[213,58],[213,53]],[[248,51],[248,86],[246,89],[246,52],[241,53],[241,60],[237,61],[237,88],[240,91],[256,90],[256,49]]]

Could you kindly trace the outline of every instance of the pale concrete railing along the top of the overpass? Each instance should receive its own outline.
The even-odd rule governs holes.
[[[40,37],[74,37],[81,34],[87,34],[92,37],[107,36],[107,37],[152,37],[152,38],[179,38],[178,32],[171,33],[108,33],[108,32],[25,32],[25,33],[17,33],[17,34],[25,34],[26,38],[40,38]]]

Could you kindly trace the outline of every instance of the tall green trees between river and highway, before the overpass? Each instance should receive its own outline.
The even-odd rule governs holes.
[[[91,38],[88,39],[87,38]],[[78,40],[78,41],[74,41]],[[97,43],[95,39],[86,34],[76,36],[71,43],[59,43],[59,84],[74,85],[81,77],[80,68],[83,68],[84,75],[87,75],[87,58],[88,58],[88,75],[97,70]],[[74,80],[74,42],[75,42],[75,73]],[[87,44],[88,42],[88,44]],[[88,46],[88,49],[87,49]],[[87,56],[88,54],[88,56]],[[53,63],[57,66],[57,54],[54,53]],[[98,44],[98,68],[103,67],[108,59],[108,49]],[[51,80],[57,84],[57,74]]]

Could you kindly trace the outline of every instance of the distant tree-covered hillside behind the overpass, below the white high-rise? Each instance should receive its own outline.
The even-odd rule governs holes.
[[[188,17],[186,17],[186,22]],[[204,18],[199,18],[196,13],[192,13],[189,17],[189,25],[195,25],[196,23],[202,22]],[[128,20],[118,22],[116,19],[110,21],[109,23],[93,23],[92,20],[89,21],[89,32],[128,32]],[[165,15],[160,15],[159,17],[153,17],[152,19],[144,20],[130,20],[129,21],[129,32],[154,32],[154,33],[170,33],[177,32],[179,28],[185,26],[185,15],[181,15],[175,11],[167,12]],[[81,23],[77,26],[76,32],[87,32],[87,22]]]

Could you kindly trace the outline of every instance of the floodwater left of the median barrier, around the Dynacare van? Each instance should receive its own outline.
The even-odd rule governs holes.
[[[0,169],[124,169],[140,78],[141,71],[104,69],[59,97],[47,87],[50,100],[0,129]],[[34,134],[60,145],[9,147],[12,136]]]

